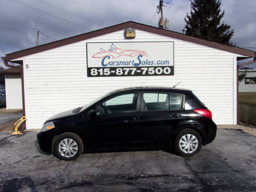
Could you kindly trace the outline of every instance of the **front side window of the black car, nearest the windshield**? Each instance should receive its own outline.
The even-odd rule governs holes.
[[[133,113],[137,109],[138,93],[126,93],[108,99],[96,106],[98,115]]]

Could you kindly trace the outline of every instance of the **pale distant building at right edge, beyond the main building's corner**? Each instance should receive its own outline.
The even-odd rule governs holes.
[[[242,82],[239,82],[239,92],[256,92],[256,69],[239,69],[239,75],[246,73]]]

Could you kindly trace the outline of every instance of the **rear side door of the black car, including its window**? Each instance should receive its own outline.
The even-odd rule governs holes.
[[[139,137],[142,143],[165,144],[183,121],[182,94],[141,93]]]

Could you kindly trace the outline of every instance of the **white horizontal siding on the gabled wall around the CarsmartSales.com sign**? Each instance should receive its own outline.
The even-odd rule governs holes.
[[[174,41],[174,76],[87,77],[87,42]],[[126,40],[117,31],[21,58],[24,62],[27,129],[41,128],[61,111],[83,106],[111,90],[130,86],[191,89],[212,111],[217,124],[236,124],[237,55],[136,30]],[[25,66],[28,65],[28,68]]]

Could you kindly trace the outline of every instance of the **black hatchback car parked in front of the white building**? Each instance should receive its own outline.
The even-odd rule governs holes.
[[[174,147],[196,154],[213,141],[211,111],[190,90],[132,87],[110,92],[84,107],[55,115],[37,133],[39,147],[60,159],[110,148]]]

